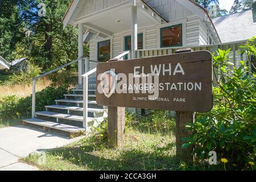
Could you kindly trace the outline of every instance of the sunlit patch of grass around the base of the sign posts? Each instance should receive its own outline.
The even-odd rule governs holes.
[[[153,115],[154,116],[154,115]],[[23,158],[42,170],[193,170],[210,169],[207,165],[187,166],[175,158],[175,137],[170,127],[172,121],[162,118],[166,130],[159,132],[154,122],[142,119],[139,122],[126,121],[126,142],[123,148],[108,147],[106,123],[86,137],[69,146],[46,152],[46,163],[39,164],[38,154]],[[147,121],[147,122],[146,122]],[[170,122],[169,122],[170,121]],[[145,127],[148,125],[148,127]],[[147,129],[146,129],[147,128]],[[163,132],[166,131],[166,132]],[[167,132],[168,131],[168,132]]]

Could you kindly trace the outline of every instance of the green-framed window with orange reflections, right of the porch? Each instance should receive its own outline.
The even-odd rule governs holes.
[[[160,29],[161,47],[182,46],[182,24]]]

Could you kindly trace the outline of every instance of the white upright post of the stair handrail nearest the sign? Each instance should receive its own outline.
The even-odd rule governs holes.
[[[84,77],[84,92],[83,92],[83,99],[84,99],[84,109],[83,109],[83,127],[85,128],[85,132],[88,131],[88,76]]]

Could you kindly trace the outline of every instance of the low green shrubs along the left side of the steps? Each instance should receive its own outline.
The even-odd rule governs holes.
[[[48,86],[36,92],[36,110],[44,110],[44,106],[55,104],[55,100],[62,98],[68,92],[67,86]],[[0,101],[0,118],[31,117],[32,97],[16,98],[15,96],[3,97]]]

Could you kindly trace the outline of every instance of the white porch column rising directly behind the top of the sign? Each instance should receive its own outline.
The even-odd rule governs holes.
[[[138,49],[137,34],[137,6],[134,3],[134,5],[131,6],[131,59],[136,58],[136,51]]]

